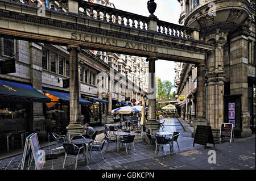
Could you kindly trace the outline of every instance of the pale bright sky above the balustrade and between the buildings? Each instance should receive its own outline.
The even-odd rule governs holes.
[[[149,16],[147,10],[148,0],[109,0],[114,3],[115,8],[135,14]],[[179,24],[180,3],[177,0],[155,0],[157,4],[155,16],[165,22]],[[171,81],[174,83],[175,63],[173,61],[158,60],[155,64],[156,77],[161,81]]]

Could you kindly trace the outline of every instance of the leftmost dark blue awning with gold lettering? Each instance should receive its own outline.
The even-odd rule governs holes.
[[[0,100],[49,103],[51,99],[30,85],[0,80]]]

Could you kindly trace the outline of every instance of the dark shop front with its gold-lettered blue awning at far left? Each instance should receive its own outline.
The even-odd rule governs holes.
[[[21,138],[34,131],[30,130],[32,103],[48,102],[50,98],[30,85],[0,80],[0,149],[6,149],[7,143],[20,145]]]

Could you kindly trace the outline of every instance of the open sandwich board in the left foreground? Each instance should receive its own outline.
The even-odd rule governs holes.
[[[30,169],[32,159],[34,159],[35,161],[35,169],[42,170],[44,167],[44,154],[40,149],[38,136],[36,133],[30,134],[30,136],[26,138],[22,157],[21,170]]]

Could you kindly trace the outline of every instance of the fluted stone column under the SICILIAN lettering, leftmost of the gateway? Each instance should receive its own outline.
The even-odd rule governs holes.
[[[80,47],[68,45],[69,51],[69,117],[67,127],[68,141],[71,137],[82,134],[82,125],[79,122],[79,66],[78,52]]]

